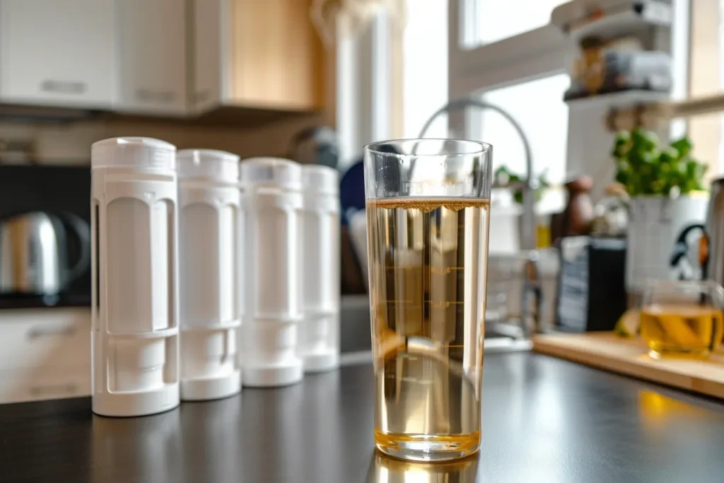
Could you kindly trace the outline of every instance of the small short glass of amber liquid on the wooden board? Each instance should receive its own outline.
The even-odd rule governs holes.
[[[706,358],[724,333],[724,289],[715,282],[654,282],[644,291],[641,337],[654,358]]]

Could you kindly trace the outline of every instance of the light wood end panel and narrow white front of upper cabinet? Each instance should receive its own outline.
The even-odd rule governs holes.
[[[312,0],[193,0],[192,108],[304,111],[324,103]]]

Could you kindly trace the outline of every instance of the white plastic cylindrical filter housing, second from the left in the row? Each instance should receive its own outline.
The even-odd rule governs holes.
[[[241,389],[239,156],[177,154],[181,399],[225,398]]]

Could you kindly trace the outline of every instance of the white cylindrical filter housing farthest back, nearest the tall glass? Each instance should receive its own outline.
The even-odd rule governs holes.
[[[340,196],[337,170],[302,167],[299,353],[307,372],[340,364]]]

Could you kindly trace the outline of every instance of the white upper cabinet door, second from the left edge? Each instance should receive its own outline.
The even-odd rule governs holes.
[[[122,0],[119,110],[186,112],[185,0]]]

